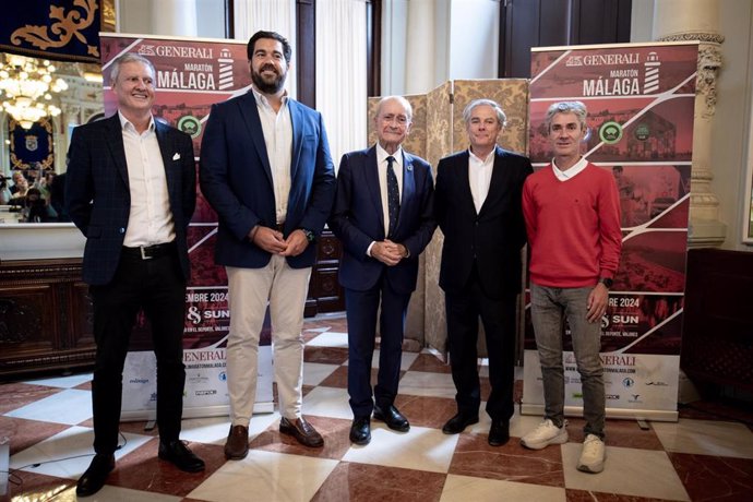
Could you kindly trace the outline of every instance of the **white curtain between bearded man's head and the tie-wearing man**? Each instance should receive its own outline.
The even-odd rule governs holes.
[[[368,146],[364,0],[316,2],[315,85],[336,168],[344,153]]]

